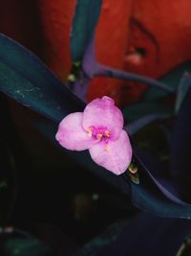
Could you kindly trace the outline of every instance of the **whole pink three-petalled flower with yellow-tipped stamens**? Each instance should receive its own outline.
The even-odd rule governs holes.
[[[123,128],[123,116],[114,101],[104,96],[83,112],[66,116],[56,140],[71,151],[89,150],[92,159],[116,175],[124,173],[132,159],[132,147]]]

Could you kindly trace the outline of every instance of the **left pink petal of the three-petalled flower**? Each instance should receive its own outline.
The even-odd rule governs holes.
[[[55,138],[67,150],[84,151],[90,149],[96,143],[96,139],[90,138],[82,128],[82,116],[83,113],[81,112],[72,113],[59,124]]]

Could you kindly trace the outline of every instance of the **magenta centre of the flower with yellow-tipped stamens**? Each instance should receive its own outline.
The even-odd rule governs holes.
[[[88,136],[89,137],[95,137],[96,139],[99,140],[107,140],[110,138],[110,131],[106,127],[94,127],[91,126],[87,129]]]

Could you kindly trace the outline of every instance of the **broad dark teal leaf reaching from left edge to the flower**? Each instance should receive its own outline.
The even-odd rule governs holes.
[[[0,91],[55,122],[85,106],[39,58],[6,35],[0,35]]]

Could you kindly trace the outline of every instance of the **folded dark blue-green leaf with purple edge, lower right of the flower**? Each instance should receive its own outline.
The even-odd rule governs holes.
[[[191,204],[180,200],[173,181],[159,175],[159,162],[136,155],[139,164],[139,185],[131,182],[132,200],[138,208],[160,217],[191,219]],[[165,167],[164,167],[165,168]],[[166,167],[166,172],[168,172]]]

